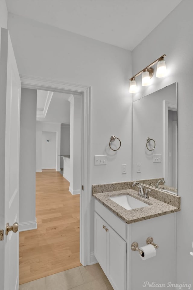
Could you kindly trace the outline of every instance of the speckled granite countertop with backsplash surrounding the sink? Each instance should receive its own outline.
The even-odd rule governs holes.
[[[117,183],[119,184],[119,183]],[[159,199],[149,197],[149,199],[145,199],[143,197],[140,197],[138,195],[138,191],[135,191],[134,189],[128,188],[131,187],[131,184],[133,182],[128,182],[128,189],[118,190],[120,187],[125,187],[124,183],[120,183],[121,186],[117,185],[113,186],[113,184],[107,184],[107,192],[105,191],[105,184],[99,184],[93,185],[93,197],[96,198],[101,204],[103,204],[106,208],[111,210],[115,215],[117,215],[119,218],[121,218],[125,223],[136,223],[138,221],[142,220],[148,220],[153,217],[159,217],[168,213],[174,213],[177,211],[180,211],[180,197],[175,196],[172,194],[164,193],[164,197],[166,198],[166,202],[163,202]],[[123,185],[122,185],[123,184]],[[109,189],[115,187],[114,191],[109,191]],[[102,190],[99,190],[99,188]],[[102,191],[98,192],[97,191]],[[160,191],[156,190],[156,192],[153,192],[153,196],[155,196],[157,193],[159,194]],[[109,197],[112,196],[120,196],[128,194],[132,197],[135,197],[138,200],[141,200],[142,202],[148,204],[148,207],[140,207],[132,210],[126,210],[124,207],[120,206],[119,204],[115,203],[113,200],[109,199]],[[167,196],[167,195],[169,196]],[[162,199],[162,198],[160,198]]]

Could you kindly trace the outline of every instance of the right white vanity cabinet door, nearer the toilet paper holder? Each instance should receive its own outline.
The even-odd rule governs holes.
[[[114,290],[126,289],[126,242],[111,228],[107,232],[107,272]]]

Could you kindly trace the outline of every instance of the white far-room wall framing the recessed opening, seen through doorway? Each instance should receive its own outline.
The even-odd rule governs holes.
[[[60,123],[36,121],[36,172],[41,172],[42,169],[46,169],[46,168],[43,168],[43,165],[42,165],[42,156],[43,156],[42,132],[56,132],[56,148],[57,148],[56,155],[57,156],[56,156],[56,164],[54,168],[60,171],[60,156],[58,156],[60,155],[60,125],[61,125]],[[43,157],[43,162],[49,162],[48,160],[46,161],[45,159],[46,159],[46,156]],[[47,167],[49,167],[49,165]]]

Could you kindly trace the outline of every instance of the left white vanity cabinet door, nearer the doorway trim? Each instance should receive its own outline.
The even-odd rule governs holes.
[[[94,213],[94,256],[106,274],[106,222]]]

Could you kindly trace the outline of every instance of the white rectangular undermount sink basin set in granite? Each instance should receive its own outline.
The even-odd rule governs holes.
[[[111,200],[124,207],[126,210],[133,210],[139,207],[148,207],[149,204],[145,204],[141,200],[138,200],[130,195],[119,195],[109,197]]]

